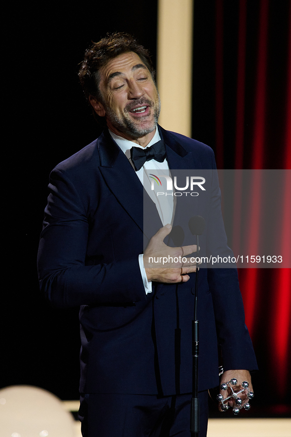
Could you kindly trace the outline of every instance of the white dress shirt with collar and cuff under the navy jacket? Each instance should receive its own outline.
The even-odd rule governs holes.
[[[156,128],[155,135],[153,136],[153,138],[151,139],[151,141],[149,142],[149,144],[146,147],[142,147],[133,141],[129,141],[128,139],[125,139],[122,136],[116,135],[113,132],[111,132],[110,130],[109,130],[109,133],[112,136],[112,138],[114,139],[114,141],[117,143],[117,145],[124,152],[124,154],[126,155],[126,157],[129,160],[129,163],[131,164],[131,166],[133,168],[134,168],[134,166],[133,166],[133,164],[131,162],[131,158],[130,158],[131,147],[139,147],[141,149],[144,149],[144,148],[152,146],[153,144],[160,141],[160,139],[161,139],[159,131],[157,128]],[[169,166],[168,166],[167,160],[164,159],[162,163],[159,163],[158,161],[156,161],[154,159],[152,159],[151,161],[146,161],[144,163],[143,167],[140,168],[139,170],[135,171],[135,173],[138,176],[138,178],[139,178],[140,182],[142,183],[144,189],[146,190],[147,194],[150,196],[152,201],[156,204],[156,207],[157,207],[157,210],[158,210],[158,213],[159,213],[159,216],[161,218],[163,226],[166,225],[167,223],[172,224],[173,209],[174,209],[173,196],[160,196],[160,197],[158,197],[157,190],[151,189],[152,178],[151,178],[150,174],[152,174],[153,172],[155,172],[154,174],[156,174],[156,176],[162,175],[162,174],[169,176],[170,172],[169,172]],[[164,185],[164,187],[160,187],[159,190],[160,191],[163,190],[165,192],[166,191],[165,178],[162,178],[161,182],[162,182],[162,185]],[[152,283],[148,282],[148,280],[147,280],[147,275],[146,275],[144,264],[143,264],[143,255],[142,254],[138,256],[138,261],[139,261],[139,268],[140,268],[145,292],[146,292],[146,294],[151,293],[152,292]]]

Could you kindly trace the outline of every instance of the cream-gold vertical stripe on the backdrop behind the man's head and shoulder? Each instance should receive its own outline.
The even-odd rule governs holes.
[[[194,0],[158,1],[159,123],[187,136],[192,133],[193,8]]]

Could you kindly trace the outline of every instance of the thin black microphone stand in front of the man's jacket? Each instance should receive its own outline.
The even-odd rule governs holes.
[[[199,256],[199,238],[197,237],[197,257]],[[198,356],[199,356],[199,320],[197,320],[198,298],[198,265],[196,264],[194,320],[192,320],[192,403],[191,403],[191,435],[198,437],[199,433],[199,400],[198,400]]]

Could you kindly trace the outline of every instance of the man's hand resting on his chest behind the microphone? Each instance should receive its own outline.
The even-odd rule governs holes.
[[[187,258],[197,250],[196,244],[182,247],[169,247],[164,238],[171,232],[171,225],[163,226],[152,236],[143,254],[143,263],[148,281],[177,283],[187,282],[188,273],[196,271],[195,257]]]

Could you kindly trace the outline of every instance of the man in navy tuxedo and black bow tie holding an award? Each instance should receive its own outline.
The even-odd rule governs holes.
[[[170,246],[178,201],[151,198],[144,174],[213,171],[205,185],[208,201],[200,208],[206,228],[199,245],[201,251],[220,248],[229,255],[213,152],[158,126],[151,59],[130,35],[112,34],[94,43],[79,77],[106,128],[51,173],[38,271],[51,303],[80,306],[82,433],[189,437],[196,261],[181,257],[195,254],[197,247],[189,231],[190,244]],[[149,229],[144,208],[153,218]],[[179,261],[153,265],[154,257]],[[222,382],[236,377],[238,386],[248,380],[252,389],[249,370],[257,368],[235,269],[200,269],[198,317],[202,437],[207,389],[219,383],[218,343]]]

